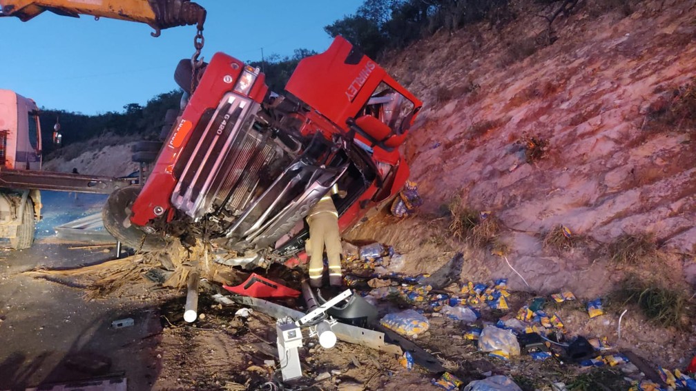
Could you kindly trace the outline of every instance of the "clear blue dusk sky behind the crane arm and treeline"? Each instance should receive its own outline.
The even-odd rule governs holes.
[[[294,49],[324,51],[324,26],[355,13],[363,0],[269,0],[251,3],[198,0],[207,9],[205,47],[209,60],[224,51],[242,61]],[[194,26],[150,36],[136,22],[79,19],[43,13],[29,22],[0,18],[3,61],[0,88],[34,99],[39,107],[86,114],[122,111],[177,88],[174,68],[193,54]]]

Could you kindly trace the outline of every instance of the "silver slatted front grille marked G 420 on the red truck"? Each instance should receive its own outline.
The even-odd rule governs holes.
[[[172,205],[198,220],[230,202],[240,209],[253,194],[258,171],[274,149],[251,129],[259,105],[228,93],[207,123],[186,166],[178,175]]]

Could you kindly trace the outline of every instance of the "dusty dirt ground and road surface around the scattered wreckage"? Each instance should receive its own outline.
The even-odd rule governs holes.
[[[104,376],[70,365],[74,357],[85,355],[88,362],[111,360],[106,374],[125,376],[129,390],[267,390],[272,388],[269,382],[280,385],[276,372],[275,319],[265,314],[256,311],[248,318],[235,316],[241,308],[239,305],[219,305],[202,294],[199,314],[203,316],[194,324],[186,324],[182,315],[184,292],[163,289],[145,278],[136,278],[127,285],[113,287],[108,294],[88,298],[93,289],[84,280],[44,280],[30,278],[26,273],[38,266],[64,269],[102,264],[113,258],[113,248],[70,249],[74,246],[42,243],[31,250],[6,251],[0,273],[0,293],[5,298],[0,308],[0,342],[4,346],[0,351],[3,374],[0,389],[23,390],[38,384]],[[365,274],[361,262],[349,264],[349,269],[354,280],[355,276]],[[365,285],[356,285],[354,289],[372,291]],[[456,282],[444,292],[462,296]],[[620,367],[581,368],[563,363],[562,358],[541,362],[526,355],[509,360],[492,358],[478,351],[475,341],[466,338],[468,330],[495,323],[506,314],[514,316],[535,297],[528,292],[511,292],[509,310],[491,310],[481,305],[480,321],[471,326],[443,317],[429,308],[427,301],[410,303],[403,298],[388,297],[377,303],[381,314],[404,308],[425,310],[429,330],[414,341],[465,384],[491,374],[504,374],[512,376],[523,390],[551,390],[552,383],[572,385],[575,381],[582,385],[578,378],[599,376],[608,389],[627,390],[624,376],[644,377],[637,372],[624,374]],[[292,300],[278,303],[294,308],[302,305]],[[624,319],[624,342],[616,344],[615,314],[608,311],[604,316],[588,320],[580,301],[547,303],[545,310],[563,319],[569,340],[576,335],[609,337],[611,344],[618,345],[609,353],[633,350],[648,358],[650,367],[656,363],[668,368],[683,367],[685,356],[681,355],[680,360],[676,353],[694,346],[693,340],[651,327],[640,316]],[[134,326],[111,327],[111,321],[127,317],[134,319]],[[308,338],[305,342],[300,350],[304,377],[285,383],[286,389],[439,389],[432,385],[438,374],[418,366],[406,369],[392,354],[344,342],[328,350],[318,346],[315,340]],[[273,364],[267,360],[274,360]]]

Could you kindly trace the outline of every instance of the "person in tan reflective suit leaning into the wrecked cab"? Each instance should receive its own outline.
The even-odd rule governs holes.
[[[341,236],[338,230],[338,212],[331,199],[332,194],[345,196],[345,191],[338,191],[333,186],[331,191],[324,195],[317,205],[307,214],[309,224],[309,237],[306,242],[306,250],[309,259],[309,280],[312,287],[322,286],[324,276],[324,246],[326,257],[329,259],[329,284],[340,287],[343,284],[341,271]]]

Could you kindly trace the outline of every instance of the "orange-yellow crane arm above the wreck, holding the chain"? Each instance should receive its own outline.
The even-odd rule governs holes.
[[[203,30],[205,8],[189,0],[0,0],[0,16],[16,16],[23,22],[51,11],[58,15],[92,15],[149,24],[161,29],[198,25]]]

